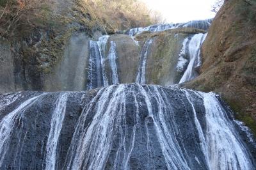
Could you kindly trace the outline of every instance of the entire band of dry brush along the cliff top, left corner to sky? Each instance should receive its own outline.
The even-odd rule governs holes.
[[[71,9],[68,12],[71,15],[56,12],[56,8],[65,6],[63,3],[70,5],[67,8]],[[69,23],[75,21],[87,29],[100,27],[108,33],[162,21],[159,13],[149,10],[141,1],[134,0],[0,1],[0,36],[24,35],[35,28],[49,29],[56,22],[65,20]],[[55,28],[58,29],[58,26]]]

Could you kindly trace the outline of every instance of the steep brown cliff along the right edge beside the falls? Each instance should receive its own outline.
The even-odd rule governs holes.
[[[216,91],[256,133],[256,4],[226,1],[202,46],[200,76],[184,85]]]

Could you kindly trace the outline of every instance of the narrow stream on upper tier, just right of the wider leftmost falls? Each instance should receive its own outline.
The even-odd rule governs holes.
[[[117,73],[117,67],[116,67],[116,59],[117,59],[117,53],[116,53],[116,43],[111,41],[110,42],[110,49],[109,49],[109,64],[111,66],[112,71],[112,83],[118,84],[118,73]]]

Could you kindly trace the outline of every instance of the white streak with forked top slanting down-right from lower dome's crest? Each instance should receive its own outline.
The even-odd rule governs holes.
[[[147,91],[145,91],[145,89],[143,89],[141,86],[140,91],[141,94],[145,97],[148,114],[154,121],[154,127],[156,129],[157,137],[161,145],[164,158],[166,160],[166,166],[168,167],[168,169],[190,169],[179,146],[179,143],[175,137],[174,132],[175,129],[177,129],[175,122],[172,122],[174,126],[172,127],[172,130],[168,128],[168,123],[166,122],[164,114],[170,114],[170,112],[168,112],[170,110],[166,108],[166,103],[164,102],[164,99],[161,97],[158,89],[154,87],[154,96],[157,100],[158,106],[157,113],[153,113],[152,111],[152,100],[150,100],[150,97],[148,97]]]

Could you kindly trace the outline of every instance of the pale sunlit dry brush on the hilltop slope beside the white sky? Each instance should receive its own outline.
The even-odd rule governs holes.
[[[163,22],[160,13],[136,0],[83,0],[110,32]]]

